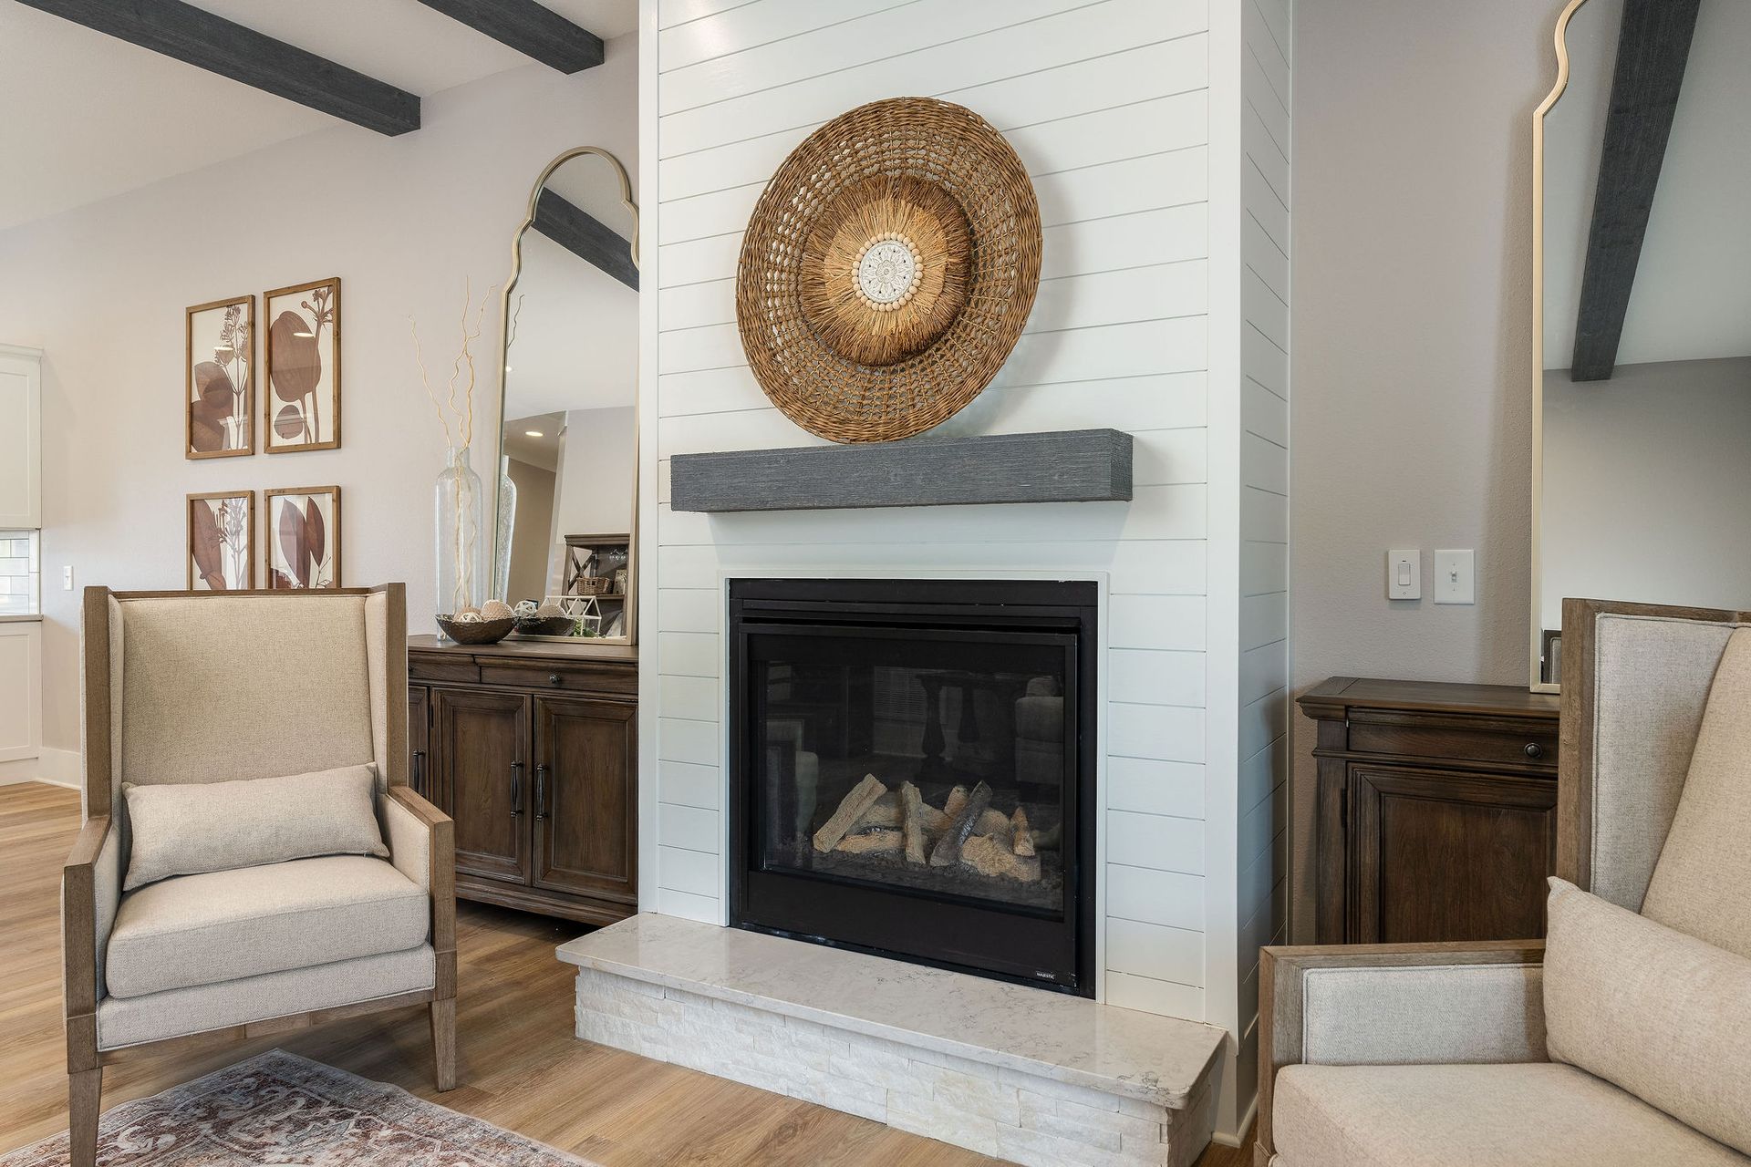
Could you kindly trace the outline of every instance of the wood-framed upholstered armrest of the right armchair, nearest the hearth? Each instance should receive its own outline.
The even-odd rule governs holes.
[[[1283,1066],[1543,1062],[1543,940],[1259,954],[1259,1162]]]

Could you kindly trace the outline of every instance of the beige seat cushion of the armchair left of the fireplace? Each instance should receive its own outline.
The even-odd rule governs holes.
[[[214,985],[425,943],[431,899],[382,859],[327,856],[179,875],[121,898],[114,997]]]

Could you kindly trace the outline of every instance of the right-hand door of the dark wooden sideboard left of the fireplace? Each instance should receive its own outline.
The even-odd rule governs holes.
[[[534,700],[534,885],[634,905],[637,705]]]

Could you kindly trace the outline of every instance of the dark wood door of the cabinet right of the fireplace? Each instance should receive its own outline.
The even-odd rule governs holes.
[[[1557,782],[1352,766],[1354,943],[1536,940]]]

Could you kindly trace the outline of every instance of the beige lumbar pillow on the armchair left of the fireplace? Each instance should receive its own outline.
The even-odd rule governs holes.
[[[376,826],[371,765],[243,782],[124,782],[121,791],[133,833],[123,891],[172,875],[389,854]]]

